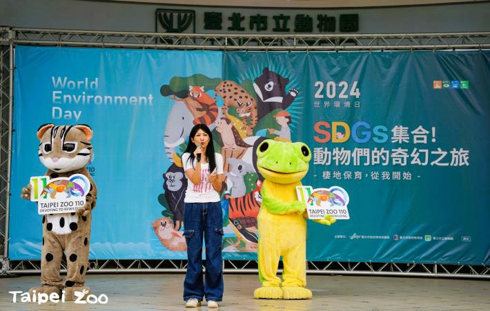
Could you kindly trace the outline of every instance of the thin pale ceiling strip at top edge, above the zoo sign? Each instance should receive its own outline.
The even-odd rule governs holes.
[[[481,2],[484,0],[111,0],[112,2],[161,3],[187,6],[240,6],[261,8],[371,8]]]

